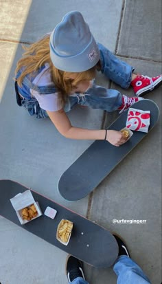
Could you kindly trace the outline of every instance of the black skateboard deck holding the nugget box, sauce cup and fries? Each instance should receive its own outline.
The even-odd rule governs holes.
[[[57,210],[54,219],[43,214],[29,223],[21,225],[10,199],[27,189],[31,190],[43,213],[47,206]],[[4,218],[90,265],[109,267],[115,263],[118,256],[117,241],[111,232],[97,223],[12,180],[0,180],[0,195],[0,215]],[[73,230],[67,246],[56,239],[56,231],[61,219],[73,222]]]

